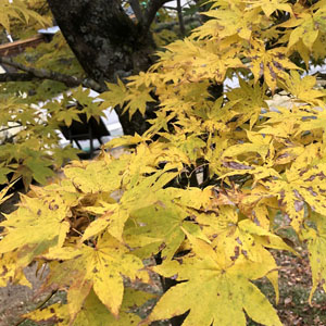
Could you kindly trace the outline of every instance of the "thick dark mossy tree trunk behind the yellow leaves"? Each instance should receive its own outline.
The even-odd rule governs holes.
[[[101,85],[115,82],[151,64],[152,35],[133,22],[120,0],[48,0],[68,46],[88,77]],[[142,134],[148,125],[139,113],[129,120],[115,109],[125,134]]]

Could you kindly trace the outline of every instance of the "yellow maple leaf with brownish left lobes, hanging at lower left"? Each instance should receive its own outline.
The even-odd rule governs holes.
[[[95,248],[60,248],[42,256],[47,260],[64,260],[51,271],[49,281],[55,281],[61,287],[70,286],[67,302],[72,321],[79,313],[91,288],[111,313],[117,316],[124,293],[122,275],[134,281],[136,278],[148,280],[148,274],[140,271],[143,268],[141,260],[108,233],[98,238]]]

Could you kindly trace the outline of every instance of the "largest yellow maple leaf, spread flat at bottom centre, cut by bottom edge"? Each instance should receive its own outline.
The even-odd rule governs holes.
[[[153,268],[165,277],[176,276],[186,281],[165,292],[146,322],[171,318],[190,310],[184,326],[244,326],[244,310],[258,323],[281,325],[268,300],[250,281],[265,276],[266,266],[241,259],[223,266],[209,243],[193,237],[188,239],[196,256],[187,255],[180,263],[171,261]],[[203,304],[198,304],[198,298]]]

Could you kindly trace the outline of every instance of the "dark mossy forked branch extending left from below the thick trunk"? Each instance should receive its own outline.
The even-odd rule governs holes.
[[[26,74],[13,73],[13,74],[3,74],[0,75],[0,82],[30,82],[34,79],[50,79],[65,84],[67,87],[76,87],[83,85],[84,87],[91,88],[96,91],[103,92],[105,87],[101,86],[97,82],[88,78],[77,78],[75,76],[70,76],[43,68],[35,68],[26,66],[22,63],[14,62],[11,58],[0,57],[0,63],[13,66],[20,71],[25,72]],[[11,79],[16,78],[16,79]],[[18,78],[21,78],[18,80]]]

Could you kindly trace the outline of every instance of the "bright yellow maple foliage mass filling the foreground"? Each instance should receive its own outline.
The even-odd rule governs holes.
[[[26,317],[126,326],[189,312],[184,326],[281,325],[253,284],[266,277],[277,302],[271,249],[296,254],[279,218],[310,252],[309,300],[326,290],[326,93],[302,74],[326,55],[326,1],[293,2],[212,1],[210,20],[149,72],[108,84],[103,108],[145,113],[154,96],[160,110],[145,135],[33,187],[1,224],[0,285],[27,285],[23,268],[37,262],[49,268],[42,289],[66,291]],[[214,98],[226,77],[239,87]],[[276,93],[285,101],[271,105]],[[151,294],[130,284],[151,284],[149,271],[180,283],[141,321],[133,309]]]

